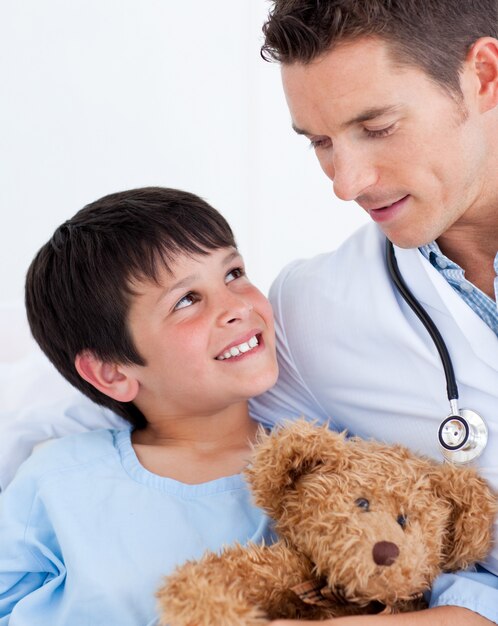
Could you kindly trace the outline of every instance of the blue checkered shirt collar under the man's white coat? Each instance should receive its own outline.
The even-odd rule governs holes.
[[[492,300],[465,278],[464,270],[444,256],[435,241],[419,248],[470,308],[498,335],[498,252],[495,256],[495,299]]]

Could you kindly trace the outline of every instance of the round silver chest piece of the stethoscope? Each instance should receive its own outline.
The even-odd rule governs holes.
[[[441,422],[438,438],[444,458],[464,465],[480,456],[488,442],[488,429],[478,413],[460,409]]]

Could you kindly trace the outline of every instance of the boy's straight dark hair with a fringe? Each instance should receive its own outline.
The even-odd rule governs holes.
[[[31,332],[59,372],[89,398],[136,428],[146,420],[131,402],[101,393],[76,371],[88,350],[102,361],[145,365],[127,326],[134,279],[157,280],[179,254],[236,247],[226,220],[201,198],[146,187],[105,196],[59,226],[26,278]]]

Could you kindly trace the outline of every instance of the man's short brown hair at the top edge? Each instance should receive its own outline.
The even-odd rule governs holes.
[[[267,61],[309,63],[339,43],[373,36],[393,59],[461,97],[470,46],[498,36],[497,0],[274,0],[263,26]]]

